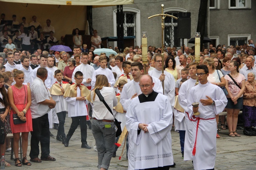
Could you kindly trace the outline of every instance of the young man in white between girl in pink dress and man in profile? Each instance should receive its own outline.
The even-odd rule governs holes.
[[[24,82],[23,82],[23,84],[27,84],[28,86],[30,86],[30,83],[32,83],[31,77],[32,77],[32,74],[33,74],[33,69],[29,66],[29,57],[28,56],[22,56],[20,61],[22,63],[22,67],[20,68],[20,70],[24,72]]]

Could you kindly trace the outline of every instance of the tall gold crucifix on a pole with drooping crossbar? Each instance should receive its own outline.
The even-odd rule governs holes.
[[[163,4],[161,5],[162,6],[162,13],[161,14],[156,14],[156,15],[152,15],[150,17],[148,17],[148,19],[150,18],[153,18],[155,16],[161,16],[161,20],[162,20],[162,24],[161,24],[161,32],[162,32],[162,51],[161,51],[161,56],[162,56],[162,74],[163,74],[163,67],[164,67],[164,61],[165,61],[165,54],[163,53],[163,31],[165,31],[165,17],[172,17],[174,19],[178,19],[177,17],[175,16],[172,16],[172,15],[168,15],[168,14],[164,14],[163,13]],[[163,81],[162,81],[162,87],[163,87],[163,93],[165,92],[165,89],[164,89],[164,85],[163,85]]]

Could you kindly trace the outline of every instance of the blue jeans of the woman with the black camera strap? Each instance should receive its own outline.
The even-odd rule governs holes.
[[[111,125],[111,127],[106,128],[105,125]],[[93,132],[98,151],[98,169],[108,169],[115,148],[115,123],[93,119],[91,131]]]

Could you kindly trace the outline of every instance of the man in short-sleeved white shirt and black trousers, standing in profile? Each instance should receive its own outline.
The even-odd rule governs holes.
[[[56,102],[52,99],[44,82],[47,79],[47,69],[40,67],[37,70],[37,77],[31,83],[31,116],[33,131],[30,141],[30,161],[41,163],[42,160],[55,161],[50,154],[50,131],[48,112],[55,107]],[[41,145],[41,159],[39,159],[39,142]]]

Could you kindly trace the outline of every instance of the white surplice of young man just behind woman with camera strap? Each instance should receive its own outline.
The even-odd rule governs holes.
[[[75,73],[77,71],[80,71],[83,73],[84,80],[83,80],[82,84],[84,84],[86,87],[91,86],[91,83],[86,83],[86,80],[88,78],[91,79],[93,77],[93,73],[94,73],[95,69],[92,66],[90,66],[89,64],[81,63],[79,66],[75,67],[75,69],[74,69],[74,72],[72,74],[72,82],[75,82],[74,77],[75,77]]]

